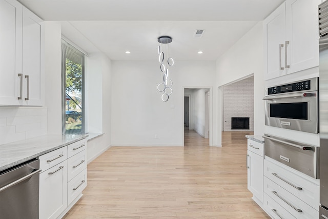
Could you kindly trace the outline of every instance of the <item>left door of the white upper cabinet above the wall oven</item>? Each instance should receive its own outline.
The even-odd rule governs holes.
[[[264,67],[265,79],[285,74],[285,4],[279,6],[264,21]]]

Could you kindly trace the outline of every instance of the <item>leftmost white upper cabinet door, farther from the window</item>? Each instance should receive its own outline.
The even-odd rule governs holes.
[[[20,105],[22,10],[16,1],[0,0],[0,105]]]

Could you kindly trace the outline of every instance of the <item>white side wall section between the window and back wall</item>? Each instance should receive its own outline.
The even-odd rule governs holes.
[[[88,141],[88,163],[111,146],[111,60],[102,53],[88,56],[86,111],[88,132],[104,133]]]

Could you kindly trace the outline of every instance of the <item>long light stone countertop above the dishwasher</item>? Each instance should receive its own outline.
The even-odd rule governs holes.
[[[0,145],[0,171],[86,138],[87,135],[43,135]]]

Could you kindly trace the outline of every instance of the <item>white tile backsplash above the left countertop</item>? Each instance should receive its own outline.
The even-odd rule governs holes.
[[[47,134],[47,107],[0,107],[0,145]]]

